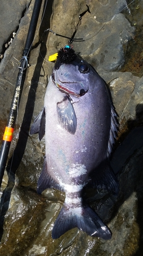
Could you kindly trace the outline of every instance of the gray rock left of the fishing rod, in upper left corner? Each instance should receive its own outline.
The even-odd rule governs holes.
[[[17,1],[15,1],[15,2],[17,3]],[[6,2],[4,2],[4,3],[6,4]],[[3,3],[3,5],[5,5],[4,3]],[[23,1],[22,1],[22,3],[23,3]],[[33,4],[28,9],[28,11],[25,13],[24,18],[20,19],[20,24],[18,23],[18,20],[17,20],[17,23],[18,23],[17,26],[19,26],[19,29],[17,31],[17,34],[16,34],[14,40],[12,41],[12,44],[9,46],[9,48],[4,53],[4,58],[2,59],[2,61],[0,63],[0,74],[1,74],[0,81],[2,84],[2,87],[0,88],[0,90],[1,90],[1,97],[3,99],[0,104],[0,111],[2,113],[1,114],[2,119],[4,119],[6,117],[6,115],[8,116],[8,111],[10,109],[13,90],[15,87],[17,74],[18,74],[18,63],[22,57],[22,51],[24,48],[26,34],[28,31],[28,24],[30,23],[30,20],[31,20]],[[27,3],[25,2],[25,6],[26,5],[27,5]],[[21,12],[23,12],[23,10],[25,9],[25,6],[23,6],[23,4],[21,5]],[[7,4],[6,4],[5,8],[7,8]],[[18,14],[19,14],[19,12],[18,12]],[[13,14],[13,19],[15,19],[15,13]],[[13,26],[14,26],[14,24],[13,24]],[[14,29],[14,27],[13,27],[13,29]],[[6,31],[7,31],[7,29],[6,29]],[[3,33],[3,35],[6,36],[5,33]],[[8,99],[8,100],[6,100],[6,99]]]

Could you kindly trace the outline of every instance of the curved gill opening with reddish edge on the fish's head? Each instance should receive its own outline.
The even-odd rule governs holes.
[[[68,93],[68,94],[71,94],[71,95],[74,95],[74,96],[77,96],[77,97],[83,96],[85,93],[88,92],[88,90],[85,91],[84,89],[80,89],[80,92],[76,93],[76,92],[73,92],[73,91],[61,86],[61,84],[59,84],[58,82],[55,81],[54,74],[52,74],[52,81],[54,82],[55,86],[58,87],[61,91],[65,92],[65,93]],[[60,81],[60,82],[64,83],[64,84],[71,84],[71,83],[75,84],[75,83],[77,83],[77,82],[70,82],[69,83],[69,82],[62,82],[62,81]]]

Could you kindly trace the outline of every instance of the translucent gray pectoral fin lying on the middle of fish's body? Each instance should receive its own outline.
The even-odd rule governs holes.
[[[57,103],[57,113],[62,127],[69,133],[75,134],[77,120],[73,105],[68,96],[65,96],[61,102]]]

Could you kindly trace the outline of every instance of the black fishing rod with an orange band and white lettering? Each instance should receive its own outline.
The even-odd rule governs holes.
[[[11,103],[8,122],[7,122],[7,126],[3,136],[3,142],[2,142],[1,151],[0,151],[0,188],[1,188],[2,180],[4,176],[10,144],[12,141],[18,106],[19,106],[23,84],[26,76],[26,69],[28,66],[28,58],[30,56],[30,50],[31,50],[34,36],[35,36],[41,4],[42,4],[42,0],[35,0],[32,18],[31,18],[31,22],[28,29],[28,33],[27,33],[26,42],[25,42],[25,47],[23,50],[22,58],[19,61],[19,67],[18,67],[19,72],[17,75],[17,80],[16,80],[14,95]]]

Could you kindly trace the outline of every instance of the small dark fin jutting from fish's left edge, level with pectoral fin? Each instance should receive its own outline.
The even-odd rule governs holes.
[[[32,127],[30,134],[39,133],[39,140],[41,140],[45,134],[45,108],[39,113],[36,117]]]

